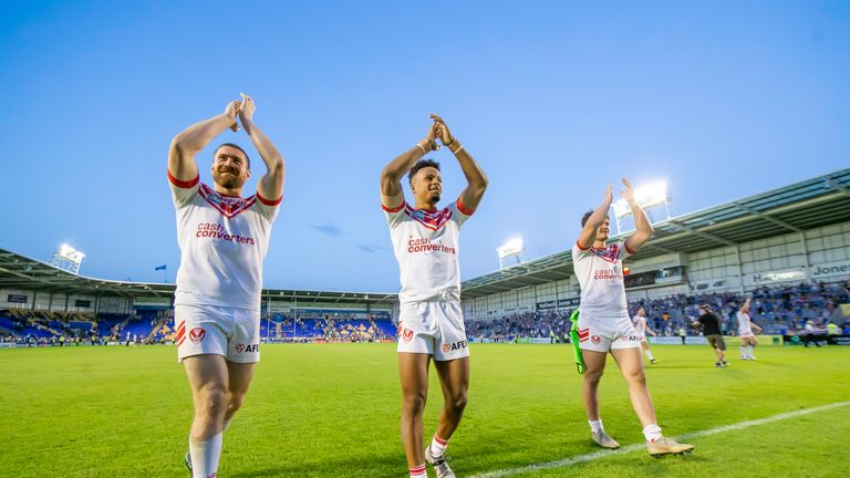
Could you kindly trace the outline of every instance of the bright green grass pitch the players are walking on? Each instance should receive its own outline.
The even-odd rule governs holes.
[[[405,477],[392,344],[263,345],[245,407],[225,435],[221,477]],[[647,382],[666,435],[850,401],[850,347],[654,346]],[[581,378],[563,345],[476,344],[469,405],[447,450],[458,477],[597,451]],[[183,477],[191,398],[173,346],[0,350],[1,477]],[[432,368],[433,370],[433,368]],[[442,396],[432,373],[425,436]],[[612,361],[602,418],[621,444],[641,426]],[[521,477],[846,476],[850,406]],[[431,470],[429,470],[431,472]],[[433,476],[433,475],[432,475]]]

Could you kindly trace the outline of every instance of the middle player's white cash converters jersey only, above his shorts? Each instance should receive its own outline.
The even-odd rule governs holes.
[[[465,208],[460,199],[434,211],[414,209],[407,202],[393,209],[382,207],[401,269],[398,301],[422,302],[443,293],[460,300],[458,236],[474,211]]]

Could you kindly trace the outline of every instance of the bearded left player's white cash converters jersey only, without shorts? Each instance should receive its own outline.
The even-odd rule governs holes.
[[[177,209],[175,305],[208,304],[260,309],[262,259],[282,197],[268,200],[225,196],[199,177],[182,181],[168,173]]]

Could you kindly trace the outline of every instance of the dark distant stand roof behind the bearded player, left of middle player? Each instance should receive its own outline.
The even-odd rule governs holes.
[[[168,298],[175,284],[94,279],[76,276],[42,261],[0,249],[0,288],[44,292],[68,292],[126,298]],[[262,300],[299,300],[320,304],[391,305],[397,294],[384,292],[331,292],[294,289],[263,289]]]

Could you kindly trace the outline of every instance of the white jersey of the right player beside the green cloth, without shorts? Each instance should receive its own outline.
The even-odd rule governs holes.
[[[631,256],[624,241],[604,249],[572,247],[572,267],[581,287],[581,314],[597,318],[629,319],[623,285],[623,259]]]

